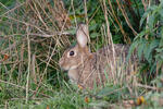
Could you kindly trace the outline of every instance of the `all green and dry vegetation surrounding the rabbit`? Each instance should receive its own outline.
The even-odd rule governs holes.
[[[139,68],[102,89],[72,85],[58,62],[75,45],[79,22],[89,25],[92,51],[111,41],[128,44],[128,58],[136,50]],[[158,109],[162,73],[163,0],[0,1],[2,109]]]

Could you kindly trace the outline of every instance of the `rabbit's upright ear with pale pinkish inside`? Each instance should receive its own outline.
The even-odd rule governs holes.
[[[79,24],[78,29],[76,32],[76,38],[78,45],[84,48],[87,46],[88,40],[88,26],[86,24]]]

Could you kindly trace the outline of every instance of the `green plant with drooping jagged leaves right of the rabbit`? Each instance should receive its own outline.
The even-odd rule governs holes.
[[[146,22],[147,20],[147,22]],[[151,5],[143,13],[140,26],[145,24],[143,31],[140,32],[134,43],[130,51],[137,49],[138,58],[145,59],[151,72],[163,72],[163,1],[159,5]]]

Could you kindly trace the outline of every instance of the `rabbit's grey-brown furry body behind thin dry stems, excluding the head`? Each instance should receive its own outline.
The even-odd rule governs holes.
[[[93,87],[104,85],[105,81],[112,81],[118,66],[126,63],[129,46],[127,45],[111,45],[93,52],[91,59],[84,63],[83,72],[79,76],[79,82],[85,87]],[[113,53],[114,50],[114,53]],[[121,62],[122,63],[121,63]],[[82,69],[79,68],[79,69]]]

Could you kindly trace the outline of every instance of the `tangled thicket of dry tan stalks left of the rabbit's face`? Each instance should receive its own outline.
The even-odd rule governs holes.
[[[55,71],[53,73],[59,72],[60,49],[70,45],[64,32],[71,27],[68,14],[60,0],[55,2],[55,9],[48,0],[17,2],[11,10],[3,5],[7,11],[0,16],[0,23],[8,27],[0,31],[0,81],[20,92],[25,90],[26,104],[32,95],[39,94],[50,75],[49,68]]]

